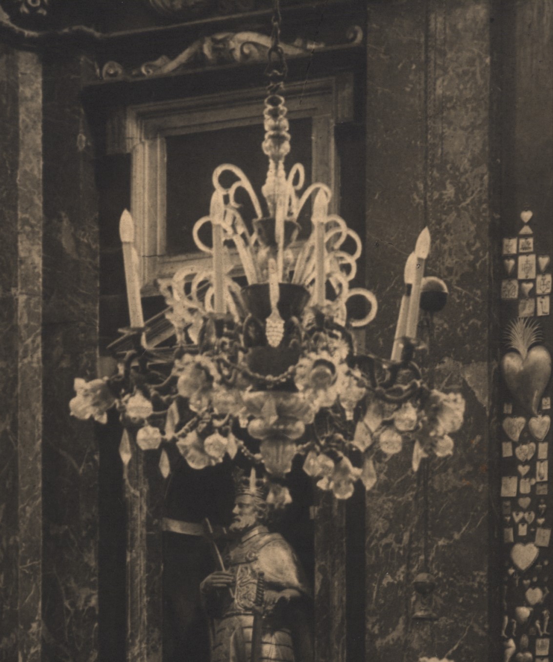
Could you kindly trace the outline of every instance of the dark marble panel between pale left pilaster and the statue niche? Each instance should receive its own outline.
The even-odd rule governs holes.
[[[44,55],[44,653],[73,662],[97,659],[99,451],[67,404],[75,377],[97,369],[97,203],[79,101],[90,66]]]

